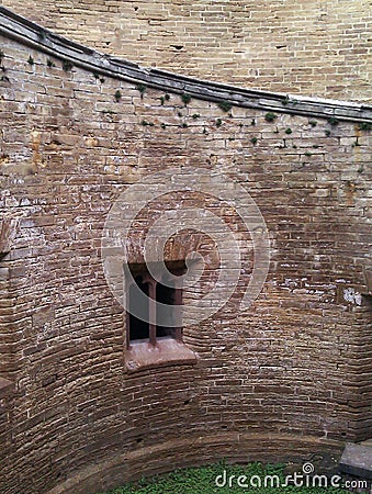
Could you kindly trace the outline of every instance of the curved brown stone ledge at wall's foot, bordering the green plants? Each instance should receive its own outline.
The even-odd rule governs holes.
[[[232,463],[290,460],[298,464],[312,460],[314,463],[322,462],[318,468],[315,464],[316,473],[320,474],[336,468],[343,446],[340,441],[312,436],[298,438],[291,435],[239,433],[192,436],[140,448],[88,467],[52,489],[48,494],[95,494],[138,480],[143,475],[215,463],[222,459]]]

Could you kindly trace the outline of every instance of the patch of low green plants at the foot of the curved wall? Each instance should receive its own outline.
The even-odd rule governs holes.
[[[136,483],[127,484],[105,494],[341,494],[349,492],[340,487],[330,486],[327,489],[319,486],[306,487],[305,481],[304,485],[300,487],[293,485],[282,486],[286,475],[283,469],[284,465],[280,464],[263,465],[261,463],[250,463],[247,465],[228,465],[221,462],[210,467],[176,470],[165,475],[142,479]],[[226,485],[217,486],[216,478],[222,475],[224,471],[226,471]],[[300,474],[301,469],[297,472]],[[234,479],[232,478],[229,486],[228,479],[230,475],[235,476]],[[238,486],[237,479],[239,475],[246,476],[246,479],[240,480],[240,483],[248,484],[248,487]],[[272,486],[268,483],[269,481],[267,481],[267,486],[264,486],[266,475],[275,475],[280,485],[279,489],[275,484]],[[312,475],[308,479],[312,482]],[[219,482],[223,484],[224,478],[219,478]],[[250,482],[253,482],[253,486],[250,485]],[[261,486],[259,486],[259,482]]]

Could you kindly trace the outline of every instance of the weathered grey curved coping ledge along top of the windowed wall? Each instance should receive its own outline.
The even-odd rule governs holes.
[[[77,67],[169,92],[185,92],[193,98],[208,101],[228,101],[236,106],[372,123],[370,105],[243,89],[179,76],[166,70],[144,68],[66,40],[3,7],[0,7],[0,33],[56,58],[69,60]]]

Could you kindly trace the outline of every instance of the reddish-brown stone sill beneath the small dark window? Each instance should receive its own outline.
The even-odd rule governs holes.
[[[148,341],[131,344],[125,361],[127,371],[135,372],[162,366],[195,363],[196,355],[173,338],[161,338],[157,339],[155,346]]]

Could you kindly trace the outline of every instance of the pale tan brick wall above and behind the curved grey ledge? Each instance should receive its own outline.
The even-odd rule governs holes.
[[[145,66],[246,88],[371,101],[369,0],[2,0]]]

